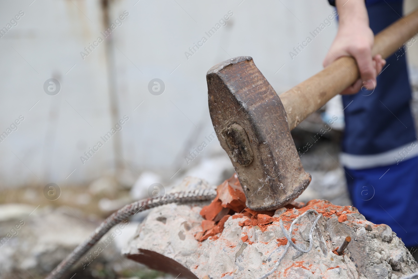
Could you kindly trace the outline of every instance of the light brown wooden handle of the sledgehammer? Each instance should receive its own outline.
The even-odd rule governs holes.
[[[375,36],[372,56],[380,54],[384,59],[387,58],[405,41],[417,35],[416,32],[418,32],[418,10],[400,18],[378,33]],[[359,77],[355,59],[352,56],[343,56],[318,74],[280,94],[290,130],[319,110],[332,97],[353,84]]]

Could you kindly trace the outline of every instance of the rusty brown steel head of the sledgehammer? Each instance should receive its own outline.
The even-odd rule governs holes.
[[[247,206],[262,211],[292,202],[308,187],[311,175],[303,169],[273,87],[249,56],[215,65],[206,80],[212,124]]]

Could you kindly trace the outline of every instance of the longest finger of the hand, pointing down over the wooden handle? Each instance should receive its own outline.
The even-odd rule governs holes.
[[[366,82],[367,89],[374,89],[376,84],[376,69],[373,64],[371,49],[367,47],[358,48],[352,51],[359,66],[360,76]]]

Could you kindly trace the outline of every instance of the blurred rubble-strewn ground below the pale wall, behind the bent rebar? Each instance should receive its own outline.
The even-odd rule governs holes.
[[[43,187],[1,191],[0,236],[10,236],[0,245],[1,279],[44,278],[112,212],[102,210],[100,201],[119,200],[125,204],[131,200],[129,189],[109,181],[102,181],[101,186],[61,190],[61,197],[54,201],[44,197]],[[173,279],[120,256],[122,246],[138,226],[135,220],[129,222],[122,230],[113,228],[111,232],[117,235],[114,241],[91,264],[86,265],[87,259],[77,263],[68,278],[75,274],[73,279]]]

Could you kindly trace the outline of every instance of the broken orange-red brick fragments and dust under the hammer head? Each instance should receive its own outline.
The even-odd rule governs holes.
[[[301,202],[291,202],[285,208],[286,211],[279,217],[273,217],[275,210],[254,211],[247,208],[245,205],[245,194],[242,191],[237,174],[234,174],[217,187],[215,199],[200,211],[200,215],[204,218],[201,224],[203,231],[196,233],[195,239],[198,241],[204,241],[209,237],[212,237],[211,240],[218,239],[220,233],[224,230],[225,222],[230,216],[232,216],[232,219],[244,219],[238,223],[241,227],[257,226],[264,232],[269,226],[277,225],[273,224],[273,222],[278,222],[280,219],[283,220],[285,228],[289,229],[295,218],[312,208],[318,213],[322,213],[325,217],[336,215],[340,223],[347,221],[347,214],[355,213],[349,210],[350,206],[333,205],[325,200],[310,200],[306,205]],[[296,230],[297,228],[294,228],[294,231]],[[248,239],[247,235],[242,237],[242,241],[249,244],[253,243]],[[287,239],[285,238],[283,240],[280,238],[277,241],[279,246],[287,244]]]

